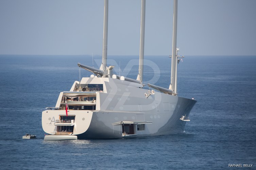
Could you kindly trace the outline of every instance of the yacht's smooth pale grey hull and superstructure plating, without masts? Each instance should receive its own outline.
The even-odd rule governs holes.
[[[182,133],[186,121],[180,118],[189,117],[196,103],[192,99],[143,89],[140,84],[118,79],[83,78],[81,81],[82,85],[93,83],[103,84],[104,87],[102,92],[94,93],[95,110],[69,109],[68,115],[73,117],[73,124],[69,123],[68,128],[62,129],[60,126],[66,123],[58,123],[58,121],[65,118],[66,111],[63,103],[65,101],[62,101],[65,92],[61,92],[56,103],[56,107],[60,108],[42,112],[42,127],[46,133],[65,134],[65,130],[71,129],[72,134],[77,135],[78,139],[112,139]],[[72,89],[73,87],[69,93],[72,93]],[[76,95],[75,92],[73,93]]]

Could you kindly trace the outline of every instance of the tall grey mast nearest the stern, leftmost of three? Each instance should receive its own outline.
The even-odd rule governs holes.
[[[102,70],[107,73],[107,27],[108,27],[108,0],[104,0]]]

